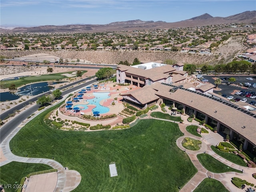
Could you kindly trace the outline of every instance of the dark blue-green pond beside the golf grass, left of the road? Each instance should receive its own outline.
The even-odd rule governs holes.
[[[59,83],[64,83],[64,82],[63,81],[53,82],[53,84],[59,84]],[[4,102],[4,101],[16,100],[16,99],[20,98],[20,96],[23,96],[23,95],[35,96],[35,95],[47,92],[52,89],[54,89],[54,87],[48,85],[48,82],[34,83],[34,84],[26,85],[26,86],[19,88],[18,91],[16,92],[16,94],[12,94],[10,92],[0,93],[0,101]]]

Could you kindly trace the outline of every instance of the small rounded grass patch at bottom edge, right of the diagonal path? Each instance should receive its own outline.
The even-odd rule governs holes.
[[[213,178],[205,178],[193,192],[229,192],[225,186],[218,180]]]

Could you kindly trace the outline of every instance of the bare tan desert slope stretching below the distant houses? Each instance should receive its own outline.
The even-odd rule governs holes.
[[[162,52],[162,51],[141,51],[141,50],[124,50],[124,51],[92,51],[92,50],[25,50],[25,51],[2,51],[1,55],[8,58],[22,57],[31,54],[49,54],[59,58],[81,62],[89,61],[98,64],[118,64],[120,61],[127,60],[132,63],[134,58],[140,61],[165,61],[166,59],[176,60],[177,62],[189,64],[217,64],[231,62],[236,55],[245,50],[242,44],[242,36],[234,36],[221,44],[218,48],[212,50],[212,54],[189,54],[182,52]],[[46,58],[47,59],[47,58]]]

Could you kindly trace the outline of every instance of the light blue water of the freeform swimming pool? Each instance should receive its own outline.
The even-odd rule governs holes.
[[[85,109],[88,109],[87,105],[96,105],[96,107],[92,109],[92,112],[98,111],[100,112],[100,114],[107,113],[109,112],[109,108],[100,105],[100,101],[109,98],[108,94],[110,94],[110,92],[104,92],[104,93],[94,92],[93,95],[95,96],[95,98],[88,99],[87,100],[89,102],[88,104],[75,105],[74,108],[82,106],[84,107],[84,109],[82,110],[85,110]]]

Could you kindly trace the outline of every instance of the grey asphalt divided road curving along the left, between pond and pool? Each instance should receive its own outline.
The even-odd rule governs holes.
[[[85,79],[79,80],[77,82],[68,84],[66,86],[62,86],[59,89],[67,88],[69,86],[78,84],[79,82],[84,82],[86,80],[89,80],[89,78],[85,78]],[[88,81],[86,83],[82,83],[80,85],[74,86],[73,88],[70,88],[68,90],[63,91],[62,92],[62,96],[66,95],[66,94],[69,94],[69,93],[71,93],[71,92],[73,92],[75,90],[82,89],[82,88],[84,88],[84,87],[86,87],[86,86],[88,86],[88,85],[90,85],[90,84],[92,84],[92,83],[94,83],[96,81],[97,81],[97,79],[93,79],[93,80],[90,80],[90,81]],[[47,94],[47,93],[49,93],[49,92],[46,92],[44,94]],[[42,96],[44,94],[41,94],[40,96]],[[29,102],[34,102],[36,100],[37,100],[37,97],[32,98],[32,99],[24,102],[23,104],[20,104],[20,105],[16,106],[15,108],[11,109],[11,110],[8,110],[7,112],[5,112],[5,113],[3,113],[1,115],[1,118],[5,118],[6,116],[8,116],[8,114],[13,113],[14,110],[20,110],[20,109],[22,109],[24,107],[24,105],[28,105]],[[38,110],[38,105],[31,106],[30,110],[26,110],[26,111],[22,112],[21,114],[16,116],[13,120],[11,120],[10,122],[8,122],[4,126],[2,126],[2,128],[0,129],[0,143],[2,143],[2,141],[14,130],[14,128],[19,126],[22,123],[22,121],[24,121],[28,116],[30,116],[31,114],[36,112],[36,110]]]

